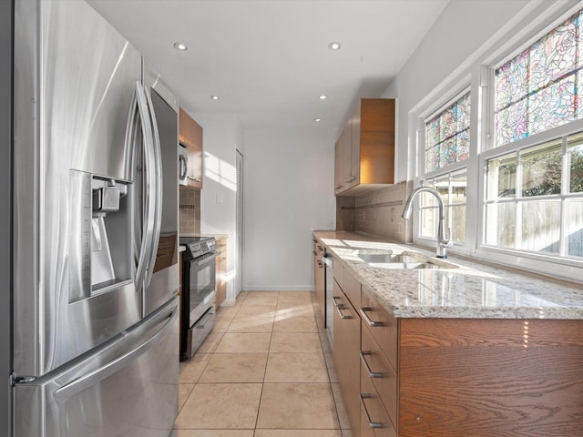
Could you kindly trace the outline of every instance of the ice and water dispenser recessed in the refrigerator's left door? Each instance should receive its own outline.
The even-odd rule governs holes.
[[[71,170],[70,301],[132,280],[131,185]]]

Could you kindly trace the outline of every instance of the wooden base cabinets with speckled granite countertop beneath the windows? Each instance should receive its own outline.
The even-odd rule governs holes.
[[[343,279],[339,303],[348,311],[341,312],[361,322],[345,324],[338,339],[334,326],[333,351],[348,412],[354,394],[343,386],[360,379],[357,435],[583,435],[580,286],[455,256],[448,259],[459,262],[455,268],[373,268],[355,249],[412,249],[348,232],[314,237]],[[360,285],[355,299],[351,281]],[[360,372],[353,371],[357,335]]]

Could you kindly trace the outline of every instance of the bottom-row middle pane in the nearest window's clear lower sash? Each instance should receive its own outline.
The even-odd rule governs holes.
[[[561,202],[538,200],[520,204],[522,229],[516,249],[559,253]]]

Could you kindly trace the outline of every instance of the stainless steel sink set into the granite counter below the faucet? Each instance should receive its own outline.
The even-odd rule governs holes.
[[[420,253],[402,252],[393,255],[391,250],[357,250],[355,255],[366,262],[369,266],[377,269],[456,269],[455,264],[451,264],[442,259],[425,257]]]

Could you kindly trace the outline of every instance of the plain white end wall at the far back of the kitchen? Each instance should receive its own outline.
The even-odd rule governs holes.
[[[313,290],[312,230],[334,229],[334,147],[317,130],[244,132],[243,290]]]

